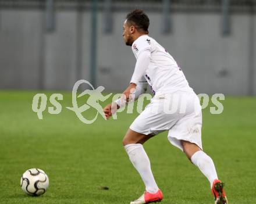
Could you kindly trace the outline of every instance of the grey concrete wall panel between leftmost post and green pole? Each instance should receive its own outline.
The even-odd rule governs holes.
[[[56,30],[44,37],[44,88],[70,89],[76,82],[75,12],[58,12]]]

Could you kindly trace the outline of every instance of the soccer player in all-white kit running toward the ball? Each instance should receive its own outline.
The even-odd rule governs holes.
[[[126,45],[131,46],[137,62],[130,85],[123,92],[125,100],[119,98],[104,108],[105,116],[109,118],[116,109],[131,101],[134,90],[135,99],[145,91],[145,80],[152,88],[154,97],[150,104],[133,121],[123,138],[123,146],[130,161],[145,184],[144,194],[130,204],[159,202],[163,199],[143,144],[165,130],[168,130],[170,143],[181,149],[207,177],[215,204],[227,203],[214,162],[202,151],[200,101],[173,57],[148,36],[149,24],[150,20],[143,10],[133,10],[126,16],[123,39]],[[172,111],[173,108],[171,111],[166,110],[166,106],[170,108],[173,105],[176,105],[175,111]]]

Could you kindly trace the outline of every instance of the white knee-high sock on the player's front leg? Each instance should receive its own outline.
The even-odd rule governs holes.
[[[151,171],[150,159],[141,144],[125,145],[125,150],[129,155],[131,163],[144,181],[146,191],[155,194],[158,191],[157,183]]]

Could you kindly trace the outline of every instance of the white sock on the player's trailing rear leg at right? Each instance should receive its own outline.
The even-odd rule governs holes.
[[[203,151],[198,151],[191,156],[191,162],[193,162],[193,164],[200,169],[204,176],[208,178],[212,188],[214,180],[218,179],[212,159]]]

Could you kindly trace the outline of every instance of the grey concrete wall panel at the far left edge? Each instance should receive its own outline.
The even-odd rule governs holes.
[[[38,88],[42,13],[1,10],[0,87]]]

